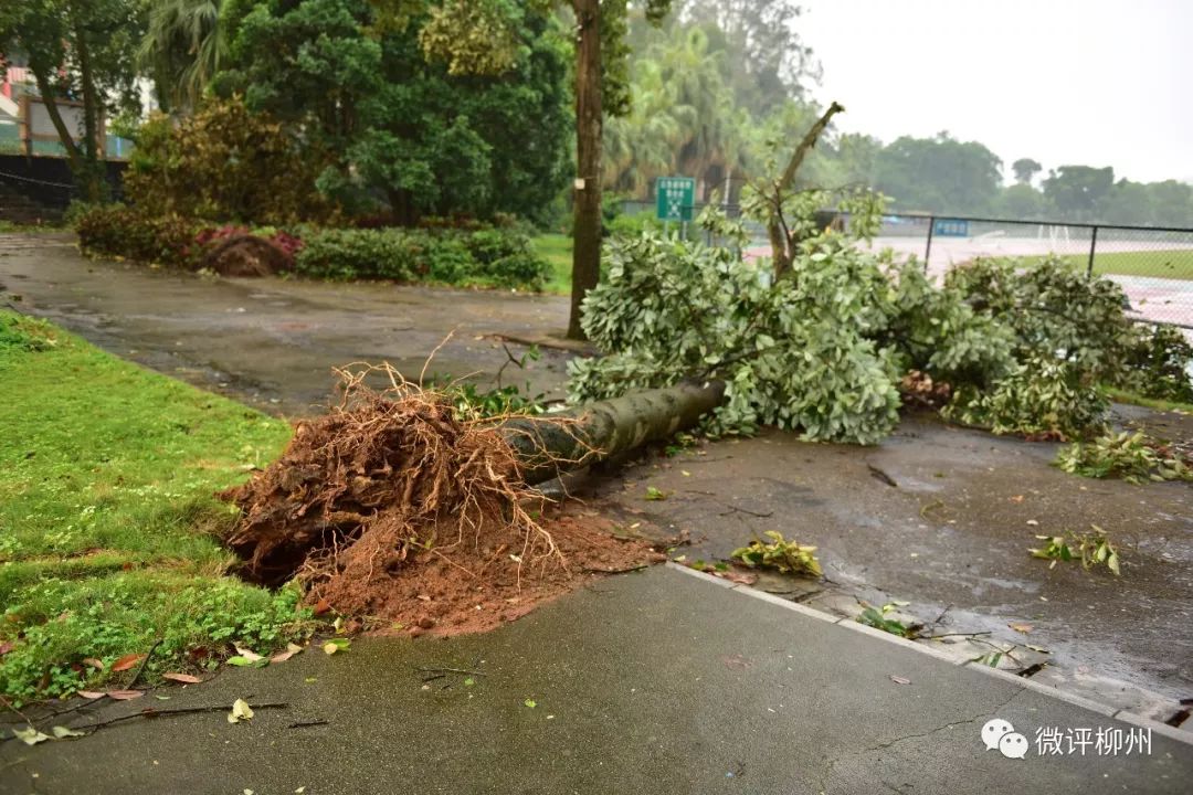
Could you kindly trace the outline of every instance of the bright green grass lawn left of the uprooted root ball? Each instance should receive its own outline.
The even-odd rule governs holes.
[[[305,628],[296,589],[224,572],[215,491],[290,428],[0,311],[0,694],[14,703],[214,666]],[[91,662],[84,662],[91,660]],[[99,667],[99,665],[103,667]]]

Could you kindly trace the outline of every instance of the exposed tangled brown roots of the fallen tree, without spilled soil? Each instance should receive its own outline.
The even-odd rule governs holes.
[[[339,372],[340,405],[299,423],[279,461],[222,495],[243,511],[227,544],[247,578],[297,576],[333,604],[364,608],[347,594],[415,559],[477,577],[462,547],[517,546],[519,570],[564,565],[534,518],[546,499],[523,483],[492,420],[462,422],[388,366]],[[378,373],[389,380],[379,392],[365,385]]]

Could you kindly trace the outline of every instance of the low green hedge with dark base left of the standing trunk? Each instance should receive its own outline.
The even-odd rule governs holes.
[[[326,229],[304,238],[296,272],[320,279],[392,279],[542,290],[549,263],[517,230]]]

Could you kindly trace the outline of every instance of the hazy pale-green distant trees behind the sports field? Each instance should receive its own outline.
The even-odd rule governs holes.
[[[605,128],[606,185],[647,198],[655,178],[698,180],[700,200],[730,199],[820,116],[806,98],[815,77],[799,39],[795,0],[686,0],[659,29],[631,14],[628,114]],[[848,97],[841,100],[846,108]],[[947,132],[883,143],[830,131],[801,169],[811,187],[873,187],[891,212],[932,212],[1131,225],[1193,226],[1193,187],[1177,180],[1132,182],[1112,168],[1062,164],[1045,173],[1021,157],[1003,161],[984,144]]]

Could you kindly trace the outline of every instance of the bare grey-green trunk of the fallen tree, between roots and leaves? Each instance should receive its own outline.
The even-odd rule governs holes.
[[[723,381],[685,381],[545,417],[507,420],[499,430],[518,453],[523,479],[533,485],[693,428],[724,396]]]

